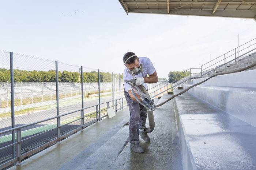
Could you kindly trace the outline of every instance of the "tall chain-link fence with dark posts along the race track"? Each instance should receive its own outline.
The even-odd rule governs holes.
[[[122,75],[0,51],[0,169],[122,109]]]

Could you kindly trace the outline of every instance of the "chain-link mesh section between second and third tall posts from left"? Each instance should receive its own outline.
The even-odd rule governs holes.
[[[82,108],[80,66],[58,62],[59,73],[59,114]],[[76,111],[61,117],[61,134],[80,125],[81,113]]]

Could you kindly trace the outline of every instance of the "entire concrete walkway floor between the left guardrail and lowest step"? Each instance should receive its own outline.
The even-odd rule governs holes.
[[[159,102],[169,98],[164,95]],[[182,169],[181,151],[173,102],[156,108],[151,142],[142,142],[145,153],[133,153],[129,136],[128,108],[112,119],[103,119],[49,147],[11,169]],[[126,146],[125,146],[126,145]]]

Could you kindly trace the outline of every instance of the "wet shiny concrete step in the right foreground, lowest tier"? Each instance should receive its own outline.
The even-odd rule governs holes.
[[[174,100],[184,169],[255,169],[256,128],[203,100]]]

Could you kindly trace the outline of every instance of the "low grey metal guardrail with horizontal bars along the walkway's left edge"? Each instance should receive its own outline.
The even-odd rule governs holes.
[[[120,100],[120,103],[118,103],[118,100]],[[114,105],[110,105],[110,103],[112,103],[112,102],[114,102],[115,104]],[[99,110],[100,106],[103,105],[103,104],[107,104],[107,107],[106,108],[102,108],[101,110]],[[120,108],[118,108],[119,104],[121,104]],[[89,107],[81,108],[81,109],[74,110],[74,111],[71,111],[71,112],[67,112],[65,114],[54,116],[54,117],[51,117],[51,118],[48,118],[48,119],[44,119],[44,120],[40,120],[40,121],[37,121],[37,122],[34,122],[34,123],[25,124],[25,125],[22,125],[22,126],[18,126],[18,127],[14,127],[14,128],[11,128],[11,129],[7,129],[7,130],[4,130],[4,131],[1,131],[0,135],[6,134],[6,133],[10,133],[10,132],[12,132],[12,133],[16,132],[15,133],[16,141],[11,143],[10,145],[1,147],[0,148],[0,152],[2,150],[4,150],[4,149],[9,148],[9,147],[16,146],[16,149],[15,149],[16,150],[16,154],[14,155],[14,158],[12,158],[11,160],[1,164],[0,165],[0,169],[3,169],[3,168],[8,167],[8,166],[11,166],[14,163],[16,163],[16,165],[19,165],[20,162],[24,158],[26,158],[26,157],[28,157],[30,155],[33,155],[34,153],[37,153],[38,151],[43,150],[46,147],[51,146],[51,145],[53,145],[56,142],[60,142],[61,140],[63,140],[66,137],[68,137],[69,135],[72,135],[72,134],[74,134],[74,133],[76,133],[76,132],[78,132],[80,130],[83,130],[85,127],[90,126],[91,124],[93,124],[95,122],[98,122],[99,120],[102,120],[107,115],[101,116],[101,114],[100,114],[101,111],[106,110],[107,108],[110,108],[110,107],[114,107],[114,111],[117,112],[118,110],[122,110],[125,106],[127,106],[127,104],[124,105],[124,97],[122,97],[122,98],[118,98],[118,99],[114,99],[114,100],[109,100],[108,102],[99,103],[99,104],[95,104],[93,106],[89,106]],[[86,116],[84,116],[83,115],[84,110],[92,108],[92,107],[95,107],[96,111],[93,112],[93,113],[90,113],[90,114],[88,114]],[[69,122],[69,124],[80,120],[80,126],[76,127],[74,130],[69,131],[68,133],[61,134],[61,131],[60,131],[60,129],[61,129],[61,124],[60,124],[61,117],[67,116],[69,114],[72,114],[72,113],[75,113],[75,112],[79,112],[79,111],[80,111],[80,114],[81,114],[80,118],[72,120],[71,122]],[[84,118],[86,118],[88,116],[91,116],[93,114],[96,114],[96,119],[91,120],[90,122],[84,123]],[[44,144],[39,145],[38,147],[35,147],[34,149],[32,149],[32,150],[30,150],[28,152],[23,151],[22,148],[21,148],[21,144],[23,142],[31,140],[31,139],[33,139],[35,137],[38,137],[39,135],[43,135],[43,134],[49,132],[50,130],[44,131],[42,133],[35,134],[35,135],[31,136],[31,137],[27,137],[27,138],[22,139],[22,136],[21,136],[22,129],[24,129],[26,127],[29,127],[29,126],[33,126],[35,124],[47,122],[47,121],[53,120],[53,119],[57,119],[57,127],[56,127],[57,128],[57,135],[56,135],[56,137],[53,137],[52,139],[46,139],[46,141],[43,141],[43,142],[45,142]]]

